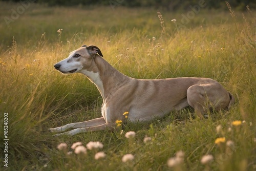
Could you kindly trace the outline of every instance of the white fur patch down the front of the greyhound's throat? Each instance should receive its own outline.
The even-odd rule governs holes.
[[[79,72],[86,75],[96,85],[96,87],[98,88],[102,98],[105,99],[104,98],[103,82],[100,79],[99,73],[98,72],[87,71],[87,70],[81,70]]]

